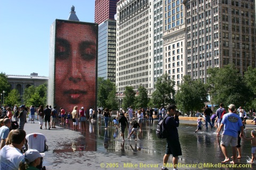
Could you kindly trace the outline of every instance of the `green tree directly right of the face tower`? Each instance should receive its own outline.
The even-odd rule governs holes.
[[[116,109],[118,107],[116,99],[116,87],[110,80],[98,78],[97,105],[103,108]]]

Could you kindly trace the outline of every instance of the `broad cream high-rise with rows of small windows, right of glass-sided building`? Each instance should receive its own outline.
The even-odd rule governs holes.
[[[139,86],[153,91],[153,67],[151,41],[153,24],[150,15],[153,1],[121,0],[117,3],[117,50],[116,86],[118,95],[123,94],[126,86],[137,90]],[[152,42],[152,44],[151,44]],[[118,96],[118,97],[121,97]]]

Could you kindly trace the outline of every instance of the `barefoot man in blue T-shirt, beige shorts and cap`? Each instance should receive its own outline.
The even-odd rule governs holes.
[[[221,150],[225,156],[225,160],[222,161],[222,163],[226,163],[229,161],[228,158],[228,153],[227,153],[227,148],[226,146],[230,145],[232,147],[232,152],[233,152],[233,161],[231,161],[231,164],[235,164],[237,161],[236,157],[236,146],[237,146],[237,133],[238,133],[238,126],[241,129],[241,134],[240,137],[244,136],[244,128],[242,124],[241,118],[234,113],[235,111],[235,105],[231,104],[228,106],[228,112],[222,117],[222,121],[220,124],[220,127],[217,131],[217,137],[220,136],[220,131],[222,128],[224,128],[222,137],[221,137],[221,142],[220,142],[220,147]]]

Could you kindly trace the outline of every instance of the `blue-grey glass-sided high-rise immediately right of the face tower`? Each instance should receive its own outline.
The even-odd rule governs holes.
[[[116,82],[116,20],[99,24],[98,77]]]

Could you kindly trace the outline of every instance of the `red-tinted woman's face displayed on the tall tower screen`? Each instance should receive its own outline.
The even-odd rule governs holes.
[[[57,22],[55,105],[72,110],[95,106],[97,31],[94,25]]]

